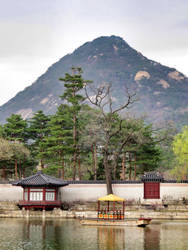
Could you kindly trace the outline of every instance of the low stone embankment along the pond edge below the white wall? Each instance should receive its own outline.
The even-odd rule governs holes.
[[[16,202],[0,202],[1,218],[96,218],[96,203],[74,204],[67,210],[20,210]],[[152,219],[188,219],[188,205],[131,205],[126,207],[125,218],[149,217]]]

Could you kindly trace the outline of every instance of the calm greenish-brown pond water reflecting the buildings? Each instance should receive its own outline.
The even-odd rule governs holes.
[[[78,220],[0,219],[0,250],[183,250],[188,222],[161,221],[147,228],[81,226]]]

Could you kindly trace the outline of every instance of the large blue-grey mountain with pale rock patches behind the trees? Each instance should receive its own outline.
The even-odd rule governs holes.
[[[83,77],[97,86],[111,83],[116,103],[124,98],[126,85],[137,92],[139,101],[130,112],[146,114],[150,121],[188,123],[188,78],[174,68],[149,60],[117,36],[99,37],[61,58],[45,74],[0,107],[0,122],[12,113],[29,118],[38,110],[54,113],[61,103],[63,83],[71,67],[82,67]]]

